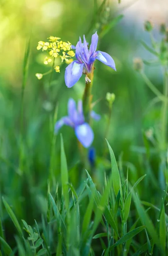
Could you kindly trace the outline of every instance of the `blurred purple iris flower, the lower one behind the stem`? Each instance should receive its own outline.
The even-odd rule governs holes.
[[[95,120],[100,119],[100,115],[94,111],[91,111],[90,116]],[[94,134],[90,125],[84,121],[81,100],[78,101],[78,106],[76,108],[76,102],[73,99],[69,99],[68,116],[64,116],[56,122],[55,132],[57,133],[63,125],[68,125],[74,129],[76,137],[85,148],[88,148],[92,144]]]

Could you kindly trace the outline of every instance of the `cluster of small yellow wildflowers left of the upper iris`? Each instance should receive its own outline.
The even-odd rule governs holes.
[[[61,62],[65,61],[67,64],[71,62],[75,53],[72,50],[72,44],[67,41],[64,42],[61,38],[50,36],[48,42],[39,41],[37,50],[48,52],[49,56],[45,56],[44,64],[47,65],[55,60],[55,58],[61,58]],[[70,59],[68,59],[70,58]],[[60,72],[59,66],[54,67],[56,72]]]

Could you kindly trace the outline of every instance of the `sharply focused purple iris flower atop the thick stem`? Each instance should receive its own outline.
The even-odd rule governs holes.
[[[93,64],[96,59],[103,62],[114,70],[115,62],[113,58],[106,52],[96,51],[98,45],[98,34],[95,32],[92,35],[92,42],[90,49],[88,49],[87,41],[84,36],[84,43],[82,44],[79,38],[76,44],[76,61],[73,61],[65,69],[65,84],[68,88],[72,87],[81,78],[82,73],[89,74],[92,71]]]

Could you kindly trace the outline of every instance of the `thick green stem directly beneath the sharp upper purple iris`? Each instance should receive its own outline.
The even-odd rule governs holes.
[[[90,111],[92,109],[92,84],[93,84],[93,76],[94,76],[94,67],[92,67],[92,71],[87,75],[91,82],[86,83],[84,95],[83,95],[83,111],[84,116],[87,122],[90,122]]]

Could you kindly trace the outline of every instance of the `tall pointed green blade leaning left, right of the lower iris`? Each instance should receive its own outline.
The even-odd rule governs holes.
[[[115,191],[115,195],[118,195],[118,191],[120,190],[121,186],[121,180],[120,180],[120,174],[118,171],[118,166],[117,162],[115,160],[115,155],[114,152],[112,151],[112,148],[110,147],[108,141],[106,140],[108,148],[109,148],[109,153],[110,153],[110,158],[111,158],[111,166],[112,166],[112,184],[113,188]]]

